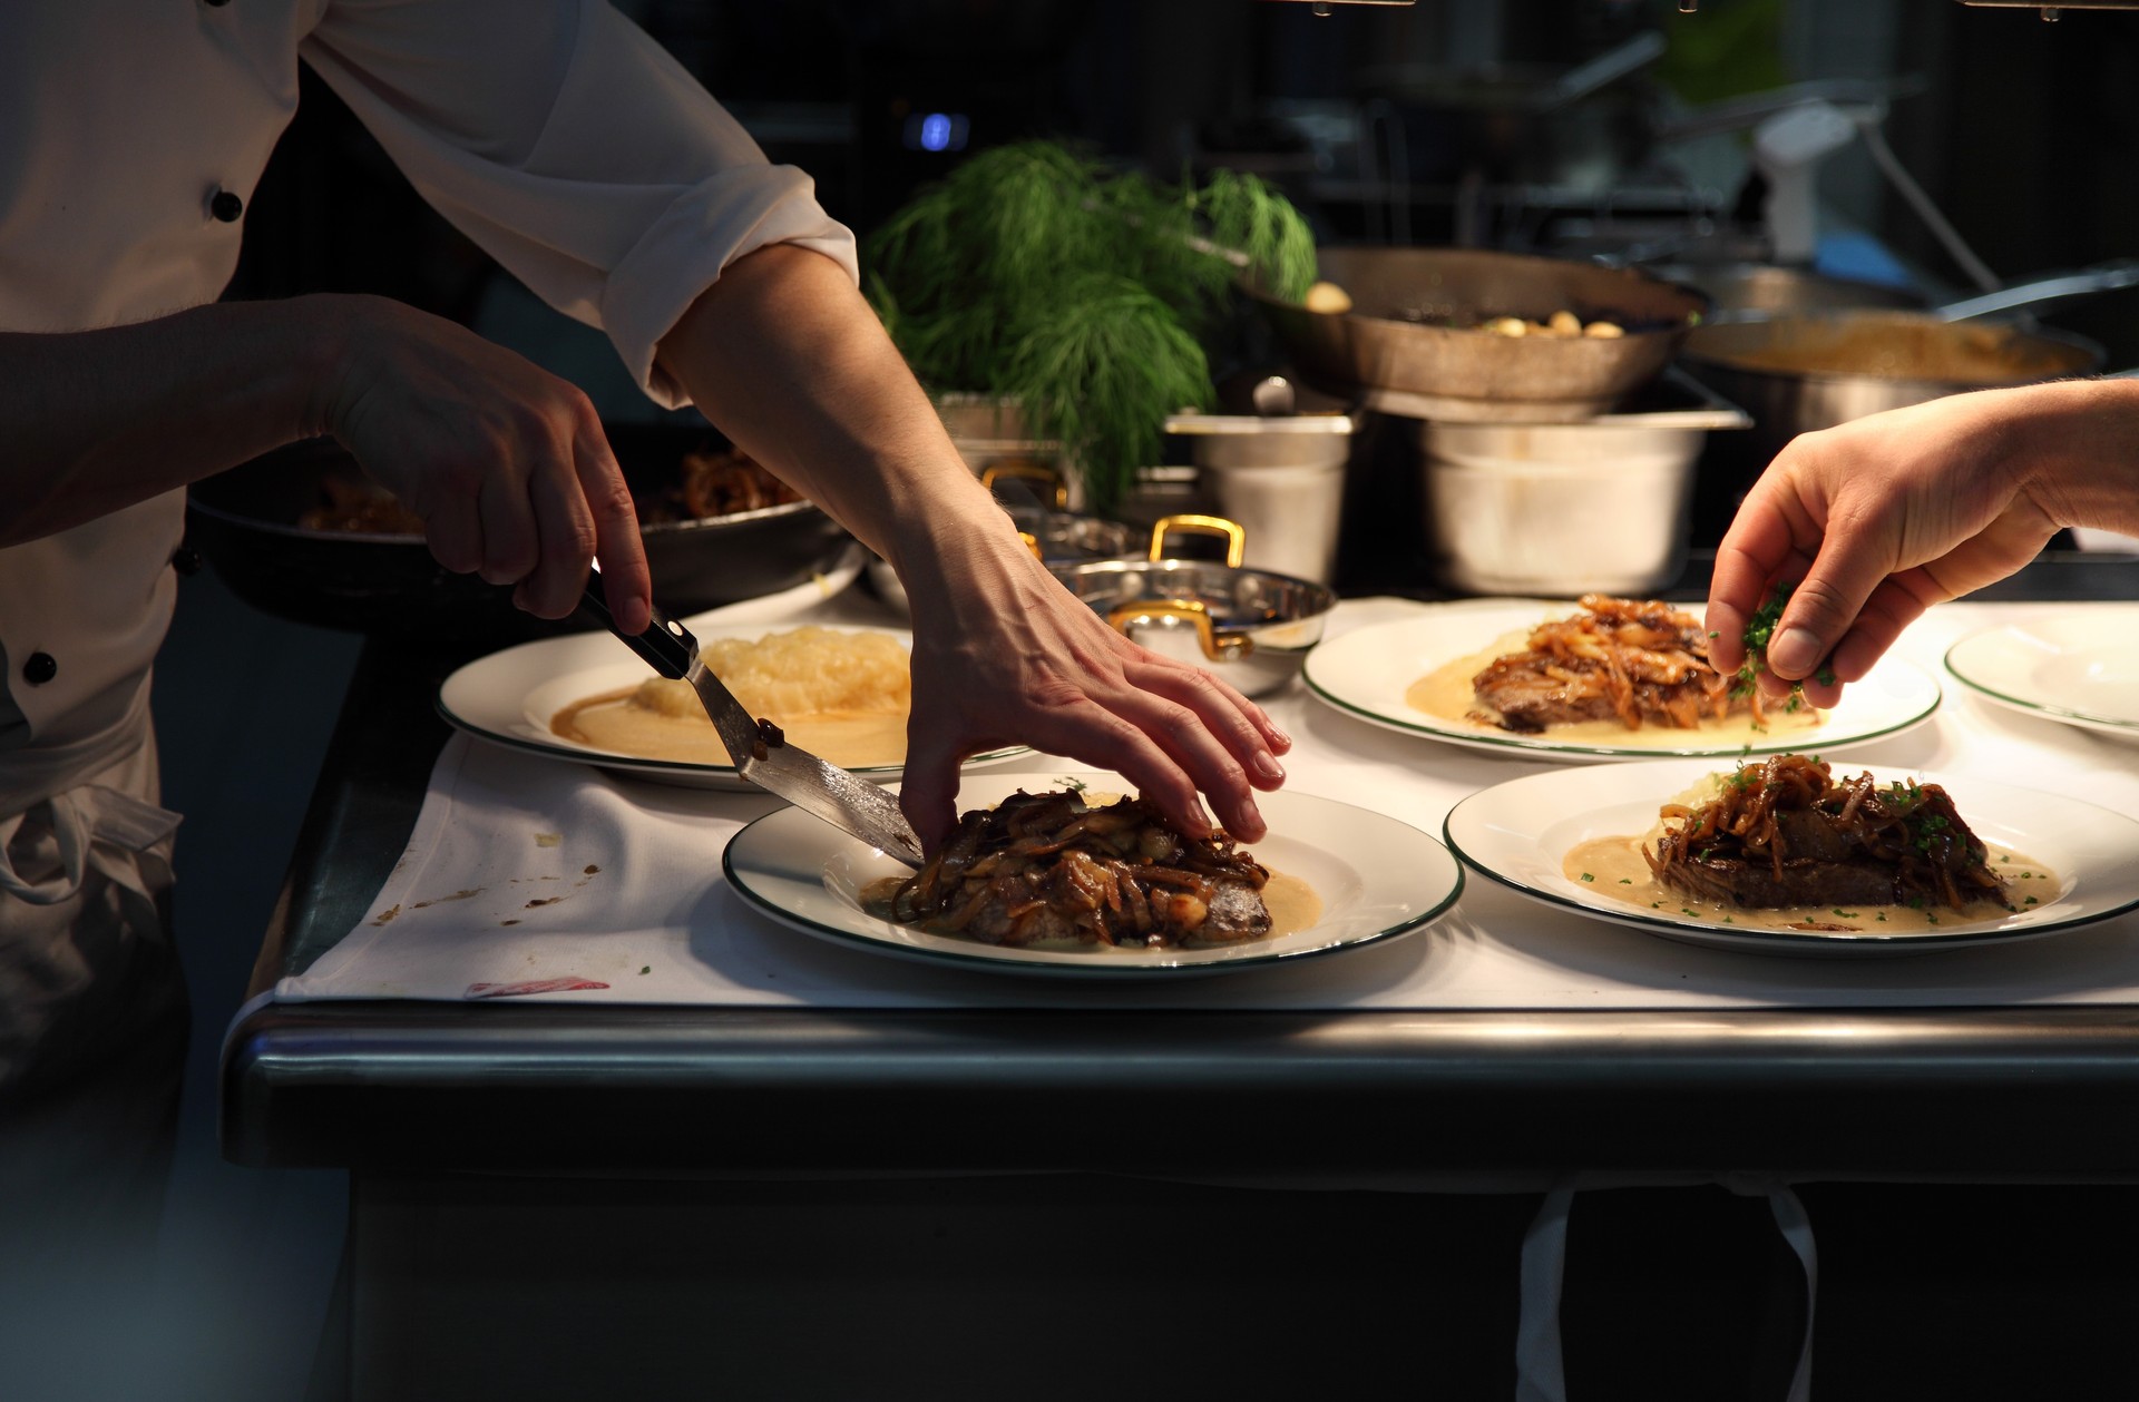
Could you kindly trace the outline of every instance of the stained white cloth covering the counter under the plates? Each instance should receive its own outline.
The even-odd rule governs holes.
[[[1418,607],[1345,601],[1330,635]],[[1944,605],[1897,652],[1936,673],[1961,635],[2073,607],[2086,605]],[[834,601],[785,622],[838,609],[851,620],[851,603]],[[2139,744],[1989,707],[1951,677],[1944,690],[1927,725],[1855,746],[1835,757],[1837,767],[1979,774],[2139,812]],[[1266,705],[1296,742],[1286,759],[1290,789],[1375,808],[1431,834],[1465,795],[1540,767],[1369,727],[1298,686]],[[999,767],[1067,763],[1029,757]],[[1410,936],[1219,977],[1093,985],[924,966],[802,934],[742,904],[721,878],[721,848],[776,806],[770,797],[616,778],[456,735],[438,757],[409,853],[364,923],[308,972],[282,979],[274,996],[462,1000],[518,985],[548,990],[543,1002],[845,1009],[2139,1002],[2139,913],[2017,945],[1775,957],[1679,945],[1546,908],[1476,872],[1455,910]]]

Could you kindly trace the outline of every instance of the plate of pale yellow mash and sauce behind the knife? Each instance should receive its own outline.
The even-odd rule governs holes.
[[[875,782],[901,776],[911,701],[905,628],[691,622],[706,665],[742,707]],[[438,714],[481,739],[691,789],[755,786],[736,774],[697,692],[652,673],[607,633],[520,643],[438,686]],[[969,765],[1025,754],[975,754]]]

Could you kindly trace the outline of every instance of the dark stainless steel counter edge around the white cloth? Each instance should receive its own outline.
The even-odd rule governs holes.
[[[1705,566],[1698,571],[1705,579]],[[2006,598],[2130,596],[2045,560]],[[364,910],[415,821],[464,658],[370,645],[255,987]],[[1138,1171],[1525,1188],[2128,1182],[2139,1007],[1179,1013],[270,1004],[222,1141],[359,1171]],[[1283,1124],[1275,1135],[1273,1124]],[[1996,1124],[1996,1133],[1983,1126]]]

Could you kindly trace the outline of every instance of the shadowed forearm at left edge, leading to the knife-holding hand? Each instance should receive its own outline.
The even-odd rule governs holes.
[[[317,432],[334,299],[0,333],[0,545],[120,511]]]

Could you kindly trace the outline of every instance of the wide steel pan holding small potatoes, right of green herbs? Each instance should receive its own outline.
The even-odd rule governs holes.
[[[1707,297],[1638,269],[1478,248],[1324,248],[1350,312],[1249,291],[1309,383],[1420,419],[1566,423],[1671,361]],[[1495,336],[1495,316],[1611,321],[1617,338]]]

